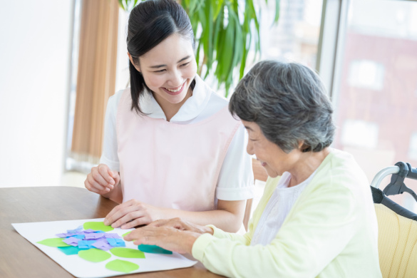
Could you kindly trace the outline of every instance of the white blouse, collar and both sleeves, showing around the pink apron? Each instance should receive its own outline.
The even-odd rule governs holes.
[[[200,76],[195,76],[195,88],[192,96],[185,101],[180,110],[171,118],[171,123],[187,125],[198,123],[215,114],[228,105],[228,101],[217,95],[205,84]],[[100,163],[108,165],[111,170],[120,171],[118,160],[118,142],[116,137],[116,115],[118,103],[123,91],[110,96],[105,112],[103,153]],[[145,93],[140,98],[140,109],[151,118],[166,120],[162,108],[152,94]],[[216,188],[218,200],[247,200],[254,195],[252,158],[246,153],[247,133],[241,125],[237,130],[220,170]]]

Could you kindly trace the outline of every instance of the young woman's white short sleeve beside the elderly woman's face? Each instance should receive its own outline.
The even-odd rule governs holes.
[[[227,150],[217,182],[218,200],[247,200],[254,196],[252,158],[246,152],[247,133],[240,125]]]

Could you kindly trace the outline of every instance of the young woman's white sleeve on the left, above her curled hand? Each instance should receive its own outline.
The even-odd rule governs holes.
[[[116,115],[123,91],[118,91],[108,98],[104,119],[103,153],[100,163],[108,165],[111,170],[120,171],[118,158],[118,140],[116,134]]]

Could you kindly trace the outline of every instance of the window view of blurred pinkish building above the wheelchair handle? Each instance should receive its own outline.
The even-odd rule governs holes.
[[[417,167],[417,1],[351,0],[345,12],[334,147],[352,153],[371,182],[398,161]],[[417,192],[416,180],[405,182]],[[417,212],[411,195],[391,198]]]

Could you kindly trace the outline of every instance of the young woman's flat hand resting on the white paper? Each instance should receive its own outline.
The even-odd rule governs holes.
[[[104,224],[129,229],[164,218],[164,210],[138,200],[129,200],[114,207],[105,217]]]

